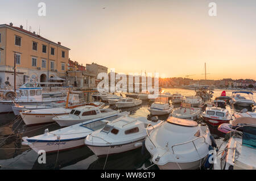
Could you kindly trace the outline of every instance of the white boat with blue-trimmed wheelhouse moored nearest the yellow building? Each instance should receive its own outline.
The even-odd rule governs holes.
[[[53,102],[60,102],[65,100],[64,97],[58,98],[43,98],[42,96],[42,87],[38,87],[38,85],[34,85],[33,83],[25,83],[23,86],[19,88],[20,96],[14,98],[15,93],[10,91],[6,92],[6,97],[11,95],[8,99],[0,100],[0,113],[9,113],[13,112],[12,107],[15,106],[14,103],[22,105],[40,105],[40,104],[49,104]],[[12,100],[14,99],[14,100]]]

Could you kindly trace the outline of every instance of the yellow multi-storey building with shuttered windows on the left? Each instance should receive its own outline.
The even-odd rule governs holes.
[[[5,86],[6,81],[14,85],[14,58],[16,86],[30,79],[48,82],[51,77],[65,78],[69,50],[22,26],[0,24],[0,86]]]

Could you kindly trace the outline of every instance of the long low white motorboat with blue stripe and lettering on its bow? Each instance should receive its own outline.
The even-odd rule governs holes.
[[[121,112],[118,113],[118,116],[127,114],[128,112]],[[30,138],[23,137],[22,145],[30,146],[36,153],[38,153],[39,150],[44,150],[49,153],[84,146],[84,139],[88,134],[103,128],[106,124],[106,121],[104,120],[111,121],[117,119],[117,117],[105,116],[52,132],[49,132],[48,129],[46,129],[44,134]]]

